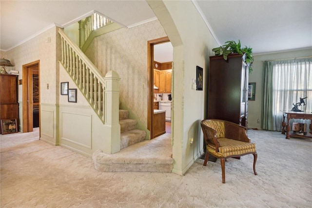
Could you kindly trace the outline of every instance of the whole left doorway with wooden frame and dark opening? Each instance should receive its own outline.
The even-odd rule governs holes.
[[[23,132],[40,126],[40,61],[23,65]]]

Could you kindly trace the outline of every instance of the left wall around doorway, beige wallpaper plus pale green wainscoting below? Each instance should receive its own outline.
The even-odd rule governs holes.
[[[57,27],[50,28],[35,38],[6,52],[7,59],[14,65],[12,70],[20,72],[22,65],[40,60],[40,104],[41,137],[56,144],[56,36]],[[22,85],[19,85],[20,125],[22,129]]]

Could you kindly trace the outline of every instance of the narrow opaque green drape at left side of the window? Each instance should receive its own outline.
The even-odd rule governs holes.
[[[262,98],[261,128],[273,130],[273,62],[263,63]]]

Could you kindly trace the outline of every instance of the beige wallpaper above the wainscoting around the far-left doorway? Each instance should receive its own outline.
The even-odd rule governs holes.
[[[56,103],[56,32],[57,27],[53,27],[6,52],[7,59],[14,65],[12,70],[20,71],[19,79],[22,79],[22,65],[40,60],[41,103]],[[19,101],[22,101],[21,85],[19,85]]]

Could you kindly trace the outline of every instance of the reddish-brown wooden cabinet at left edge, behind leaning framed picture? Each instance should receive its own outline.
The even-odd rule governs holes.
[[[16,119],[19,126],[18,76],[0,75],[0,119]]]

